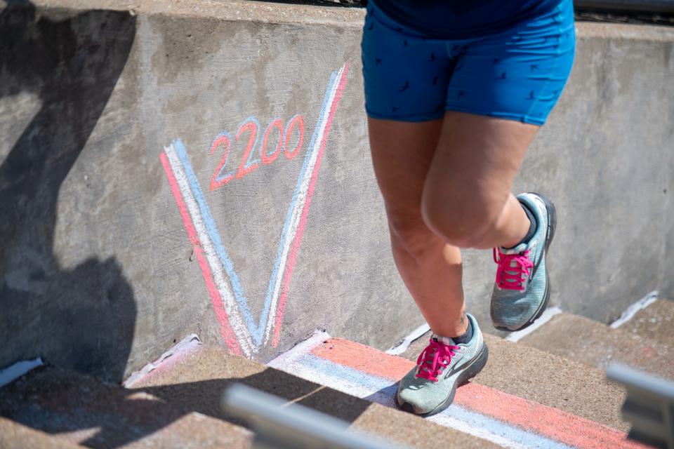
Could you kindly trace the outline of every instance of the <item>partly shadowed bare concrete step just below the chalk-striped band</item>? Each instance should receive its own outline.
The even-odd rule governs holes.
[[[289,402],[300,403],[352,423],[352,426],[414,448],[496,448],[499,445],[457,429],[441,427],[421,417],[345,394],[296,375],[230,354],[220,347],[199,345],[169,358],[156,370],[127,383],[164,401],[210,417],[231,420],[220,407],[223,390],[241,382]],[[236,422],[236,420],[234,420]],[[432,436],[432,437],[431,437]]]

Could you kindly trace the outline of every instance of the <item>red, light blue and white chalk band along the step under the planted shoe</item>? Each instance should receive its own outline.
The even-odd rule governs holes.
[[[317,333],[269,365],[395,407],[396,382],[415,363]],[[475,383],[458,389],[452,406],[427,419],[505,447],[643,447],[627,441],[624,432],[604,424]]]

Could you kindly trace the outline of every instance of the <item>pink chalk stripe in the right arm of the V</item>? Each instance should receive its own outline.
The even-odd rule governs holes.
[[[309,215],[309,206],[311,206],[311,197],[314,194],[314,189],[316,187],[316,180],[318,178],[318,173],[321,168],[321,159],[323,157],[323,152],[325,149],[326,142],[328,140],[328,134],[330,133],[330,127],[332,125],[332,119],[335,116],[337,111],[337,105],[342,96],[342,91],[346,85],[346,74],[349,72],[348,65],[344,66],[335,97],[333,99],[332,105],[330,106],[330,112],[328,119],[325,124],[325,130],[323,132],[323,138],[321,140],[321,146],[319,147],[318,154],[316,156],[316,163],[314,166],[313,173],[311,174],[311,180],[309,182],[309,188],[307,191],[307,199],[304,203],[304,208],[302,209],[302,215],[300,216],[300,223],[298,225],[297,233],[293,239],[290,253],[288,255],[288,263],[286,264],[286,272],[284,273],[281,295],[279,296],[279,304],[277,306],[276,319],[274,322],[274,337],[272,338],[272,346],[277,347],[279,344],[279,338],[281,336],[281,323],[283,321],[283,314],[286,308],[286,302],[288,300],[288,292],[290,291],[290,283],[293,276],[293,270],[295,269],[295,262],[297,260],[297,255],[302,245],[302,236],[304,234],[305,225],[307,223],[307,217]]]

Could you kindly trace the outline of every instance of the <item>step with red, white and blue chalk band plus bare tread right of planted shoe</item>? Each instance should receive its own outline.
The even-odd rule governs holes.
[[[504,447],[642,447],[626,440],[628,425],[619,418],[623,393],[608,384],[599,370],[498,337],[488,338],[491,373],[458,388],[454,403],[425,421]],[[527,361],[534,361],[534,366],[528,366]],[[317,333],[269,364],[390,408],[396,407],[397,381],[416,366],[415,361],[325,333]],[[497,379],[499,373],[501,380]],[[516,387],[510,391],[536,396],[543,403],[480,384],[482,381],[501,387],[512,382]],[[555,382],[562,382],[562,386]]]

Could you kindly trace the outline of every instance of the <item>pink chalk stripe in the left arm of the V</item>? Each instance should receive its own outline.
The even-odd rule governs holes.
[[[220,323],[220,333],[223,335],[223,340],[225,340],[227,348],[230,349],[232,353],[241,355],[242,351],[241,346],[239,346],[239,340],[237,340],[237,336],[234,334],[234,330],[227,320],[227,313],[223,307],[223,298],[220,297],[220,292],[218,292],[218,288],[216,288],[216,285],[213,282],[211,267],[209,267],[209,263],[206,262],[206,258],[204,257],[204,248],[201,248],[201,241],[199,241],[197,231],[194,229],[194,225],[192,224],[192,217],[190,217],[190,213],[187,211],[187,205],[185,205],[183,194],[180,192],[180,187],[178,187],[176,176],[173,175],[171,163],[169,163],[169,159],[166,157],[164,152],[159,154],[159,159],[161,160],[161,165],[164,166],[166,177],[169,180],[173,199],[176,200],[178,210],[180,210],[180,217],[183,218],[183,225],[187,231],[187,236],[192,243],[192,248],[194,248],[194,255],[197,256],[197,262],[201,268],[201,274],[204,276],[204,281],[206,282],[206,289],[209,290],[211,302],[213,303],[213,309],[216,311],[216,318]]]

